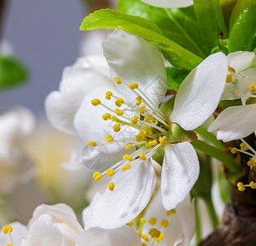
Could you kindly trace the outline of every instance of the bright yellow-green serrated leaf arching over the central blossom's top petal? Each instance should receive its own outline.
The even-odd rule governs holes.
[[[202,62],[202,58],[165,38],[152,21],[139,16],[128,16],[109,9],[95,11],[82,21],[80,30],[95,29],[119,29],[135,34],[164,50],[172,65],[186,70],[192,70]]]

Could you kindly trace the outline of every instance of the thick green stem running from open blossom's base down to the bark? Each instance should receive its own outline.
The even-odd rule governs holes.
[[[237,164],[235,163],[235,159],[231,157],[228,153],[225,153],[219,148],[216,148],[210,144],[206,144],[201,140],[195,140],[191,144],[194,148],[201,150],[203,153],[206,153],[207,155],[214,157],[216,158],[216,160],[222,162],[230,170],[230,172],[234,174],[240,173],[240,167],[237,166]]]

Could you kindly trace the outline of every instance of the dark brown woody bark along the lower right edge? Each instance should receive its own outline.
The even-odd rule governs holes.
[[[251,134],[245,140],[255,149],[254,134]],[[244,170],[244,175],[237,182],[249,184],[250,181],[254,180],[255,167],[254,170],[249,169],[246,164],[249,157],[244,154],[238,153],[237,159],[240,160],[240,165]],[[256,189],[246,188],[243,192],[240,192],[234,185],[231,189],[230,198],[231,203],[226,204],[222,224],[211,235],[202,240],[199,246],[256,245]]]

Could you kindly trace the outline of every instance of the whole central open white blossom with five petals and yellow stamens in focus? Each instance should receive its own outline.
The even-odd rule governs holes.
[[[221,52],[207,57],[181,84],[173,112],[166,116],[159,108],[167,82],[158,49],[123,31],[110,34],[103,48],[116,84],[109,87],[109,80],[103,80],[103,86],[85,95],[75,129],[91,148],[96,147],[95,153],[142,146],[107,171],[95,172],[95,180],[114,175],[91,212],[92,223],[109,229],[126,224],[147,205],[156,182],[151,157],[159,151],[165,150],[161,175],[165,209],[176,207],[189,194],[199,172],[198,157],[189,144],[196,139],[191,130],[216,109],[228,62]]]

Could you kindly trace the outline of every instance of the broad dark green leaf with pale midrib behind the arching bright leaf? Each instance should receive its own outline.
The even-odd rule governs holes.
[[[199,57],[207,57],[211,52],[211,49],[202,43],[202,34],[193,7],[167,9],[153,7],[140,0],[120,0],[118,9],[125,14],[153,21],[166,38]]]

